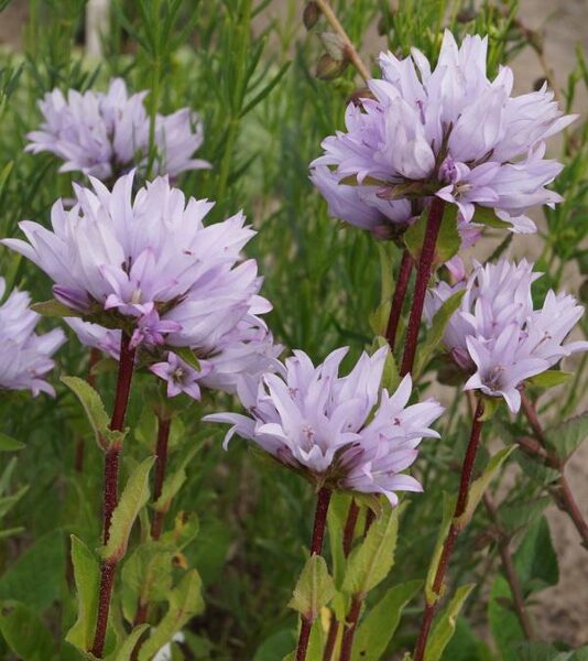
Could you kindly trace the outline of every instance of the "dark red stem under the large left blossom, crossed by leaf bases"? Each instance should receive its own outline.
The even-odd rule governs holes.
[[[130,337],[122,333],[120,340],[120,360],[119,375],[117,381],[117,392],[115,395],[115,409],[110,420],[110,429],[112,431],[122,431],[124,426],[124,418],[129,404],[129,395],[131,392],[131,381],[134,368],[135,350],[130,346]],[[105,483],[102,498],[102,516],[104,516],[104,543],[108,543],[110,535],[110,522],[112,512],[118,502],[118,466],[119,454],[122,449],[121,444],[113,444],[105,456]],[[91,653],[101,659],[105,647],[106,630],[108,625],[108,611],[110,609],[110,595],[112,594],[112,585],[115,583],[115,574],[117,571],[116,562],[104,562],[100,565],[100,593],[98,596],[98,617],[96,620],[96,632]]]

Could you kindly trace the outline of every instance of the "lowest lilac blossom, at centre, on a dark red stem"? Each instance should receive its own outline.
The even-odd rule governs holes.
[[[407,407],[410,376],[394,394],[380,392],[386,347],[371,357],[363,354],[348,376],[339,377],[347,351],[333,351],[318,367],[294,351],[280,375],[264,375],[257,389],[242,384],[239,395],[248,415],[215,413],[204,420],[233,425],[225,446],[237,433],[319,486],[384,494],[394,506],[394,491],[422,490],[402,472],[414,463],[423,437],[438,437],[429,425],[443,408],[434,400]]]

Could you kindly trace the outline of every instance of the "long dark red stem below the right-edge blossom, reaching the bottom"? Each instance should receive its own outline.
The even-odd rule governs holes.
[[[439,564],[437,565],[437,571],[433,581],[433,592],[435,593],[437,600],[434,604],[427,603],[425,606],[425,613],[423,614],[423,621],[421,624],[421,631],[418,633],[418,639],[416,641],[416,647],[414,650],[414,661],[423,661],[425,657],[428,632],[431,630],[431,625],[433,624],[433,617],[435,616],[435,611],[437,609],[438,597],[440,596],[443,584],[445,582],[445,575],[447,574],[447,568],[449,566],[449,559],[451,556],[451,552],[454,550],[457,537],[461,531],[461,528],[457,524],[457,520],[466,511],[466,507],[468,505],[469,486],[471,484],[473,464],[476,462],[476,455],[478,454],[478,447],[480,445],[481,438],[481,431],[483,424],[481,420],[482,415],[483,402],[480,399],[476,408],[476,413],[473,414],[469,443],[466,449],[466,456],[464,457],[464,464],[461,466],[461,478],[459,481],[459,492],[457,495],[454,518],[451,521],[451,525],[449,527],[449,532],[447,533],[447,537],[445,539],[442,555],[439,559]]]

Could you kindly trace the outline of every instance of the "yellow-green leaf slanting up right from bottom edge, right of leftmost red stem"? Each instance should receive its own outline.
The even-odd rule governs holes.
[[[170,607],[161,622],[145,640],[139,652],[139,661],[149,661],[172,640],[184,625],[204,610],[202,579],[196,570],[187,572],[170,593]]]

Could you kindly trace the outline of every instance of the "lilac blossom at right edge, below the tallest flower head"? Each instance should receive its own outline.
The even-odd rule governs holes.
[[[503,397],[514,413],[521,407],[520,388],[525,379],[588,349],[587,342],[564,344],[584,314],[574,296],[549,291],[543,306],[534,310],[531,285],[540,277],[526,260],[477,264],[467,282],[439,283],[425,302],[431,323],[451,294],[465,290],[443,343],[457,365],[471,375],[466,390]]]

